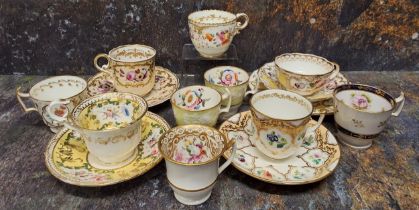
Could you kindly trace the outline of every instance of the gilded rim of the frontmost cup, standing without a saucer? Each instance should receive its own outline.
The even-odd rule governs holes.
[[[168,133],[170,133],[170,132],[172,132],[173,130],[176,130],[176,129],[187,129],[187,128],[199,128],[199,127],[201,127],[201,128],[203,128],[203,129],[205,129],[205,130],[211,130],[211,131],[213,131],[213,132],[215,132],[215,133],[217,133],[219,136],[221,136],[221,138],[223,139],[223,148],[220,150],[220,152],[218,153],[218,154],[216,154],[216,155],[214,155],[213,157],[211,157],[211,159],[210,160],[207,160],[207,161],[205,161],[205,162],[199,162],[199,163],[184,163],[184,162],[179,162],[179,161],[176,161],[176,160],[174,160],[172,157],[169,157],[169,156],[167,156],[164,152],[163,152],[163,150],[162,150],[162,143],[161,143],[161,141],[163,140],[163,138],[165,138],[165,136],[168,134]],[[173,141],[171,141],[170,142],[171,144],[173,144]],[[176,165],[183,165],[183,166],[200,166],[200,165],[207,165],[207,164],[209,164],[209,163],[212,163],[212,162],[214,162],[214,161],[216,161],[216,160],[218,160],[223,154],[224,154],[224,152],[227,150],[227,149],[229,149],[230,147],[228,147],[228,142],[227,142],[227,138],[226,138],[226,136],[223,134],[223,133],[221,133],[221,131],[219,131],[218,129],[215,129],[215,128],[213,128],[213,127],[210,127],[210,126],[207,126],[207,125],[199,125],[199,124],[190,124],[190,125],[179,125],[179,126],[176,126],[176,127],[173,127],[173,128],[170,128],[168,131],[166,131],[160,138],[159,138],[159,141],[158,141],[158,148],[159,148],[159,152],[160,152],[160,154],[163,156],[163,158],[165,159],[165,160],[167,160],[167,161],[169,161],[169,162],[171,162],[171,163],[174,163],[174,164],[176,164]]]

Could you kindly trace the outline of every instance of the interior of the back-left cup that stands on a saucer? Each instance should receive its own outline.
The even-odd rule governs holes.
[[[156,55],[156,50],[146,45],[123,45],[112,49],[109,52],[109,57],[112,60],[121,62],[139,62],[153,58]]]

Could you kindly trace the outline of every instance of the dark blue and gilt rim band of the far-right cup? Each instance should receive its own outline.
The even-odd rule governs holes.
[[[371,111],[366,111],[366,110],[360,110],[360,109],[355,109],[351,106],[349,106],[348,104],[346,104],[343,100],[340,100],[336,97],[336,95],[344,90],[361,90],[361,91],[367,91],[369,93],[372,93],[376,96],[382,97],[385,100],[387,100],[390,105],[391,105],[391,109],[386,110],[386,111],[380,111],[380,112],[371,112]],[[381,88],[378,87],[374,87],[371,85],[365,85],[365,84],[359,84],[359,83],[355,83],[355,84],[343,84],[343,85],[339,85],[335,88],[335,90],[333,91],[333,99],[336,101],[339,101],[341,104],[343,104],[345,107],[350,108],[351,110],[355,110],[358,112],[362,112],[362,113],[367,113],[367,114],[382,114],[382,113],[386,113],[386,112],[391,112],[393,111],[397,106],[396,106],[396,100],[394,99],[394,97],[392,95],[390,95],[389,93],[387,93],[386,91],[384,91]]]

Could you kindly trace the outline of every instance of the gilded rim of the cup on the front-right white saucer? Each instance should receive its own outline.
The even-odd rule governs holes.
[[[258,95],[265,94],[265,93],[267,93],[267,92],[277,92],[277,93],[283,93],[283,94],[287,94],[287,95],[292,95],[292,96],[295,96],[295,97],[297,97],[297,98],[299,98],[299,99],[303,100],[305,103],[307,103],[307,104],[309,105],[309,107],[310,107],[310,111],[309,111],[309,113],[308,113],[306,116],[304,116],[304,117],[299,117],[299,118],[295,118],[295,119],[281,119],[281,118],[276,118],[276,117],[268,116],[267,114],[264,114],[264,113],[262,113],[261,111],[257,110],[257,109],[255,108],[255,106],[254,106],[254,102],[253,102],[254,97],[256,97],[256,96],[258,96]],[[280,90],[280,89],[270,89],[270,90],[263,90],[263,91],[257,92],[256,94],[254,94],[254,95],[250,98],[250,100],[249,100],[249,104],[250,104],[250,110],[251,110],[251,111],[255,111],[255,112],[257,112],[258,114],[260,114],[260,115],[262,115],[262,116],[264,116],[264,117],[270,118],[270,119],[274,119],[274,120],[282,120],[282,121],[296,121],[296,120],[302,120],[302,119],[305,119],[305,118],[307,118],[307,117],[310,117],[310,116],[313,114],[313,110],[314,110],[313,104],[312,104],[312,103],[311,103],[308,99],[306,99],[304,96],[299,95],[299,94],[294,93],[294,92],[291,92],[291,91],[287,91],[287,90]]]

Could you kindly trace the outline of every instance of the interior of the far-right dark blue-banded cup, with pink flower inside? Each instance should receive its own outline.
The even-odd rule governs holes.
[[[336,90],[335,98],[346,106],[370,113],[390,111],[395,106],[394,99],[389,94],[368,86],[340,86]]]

